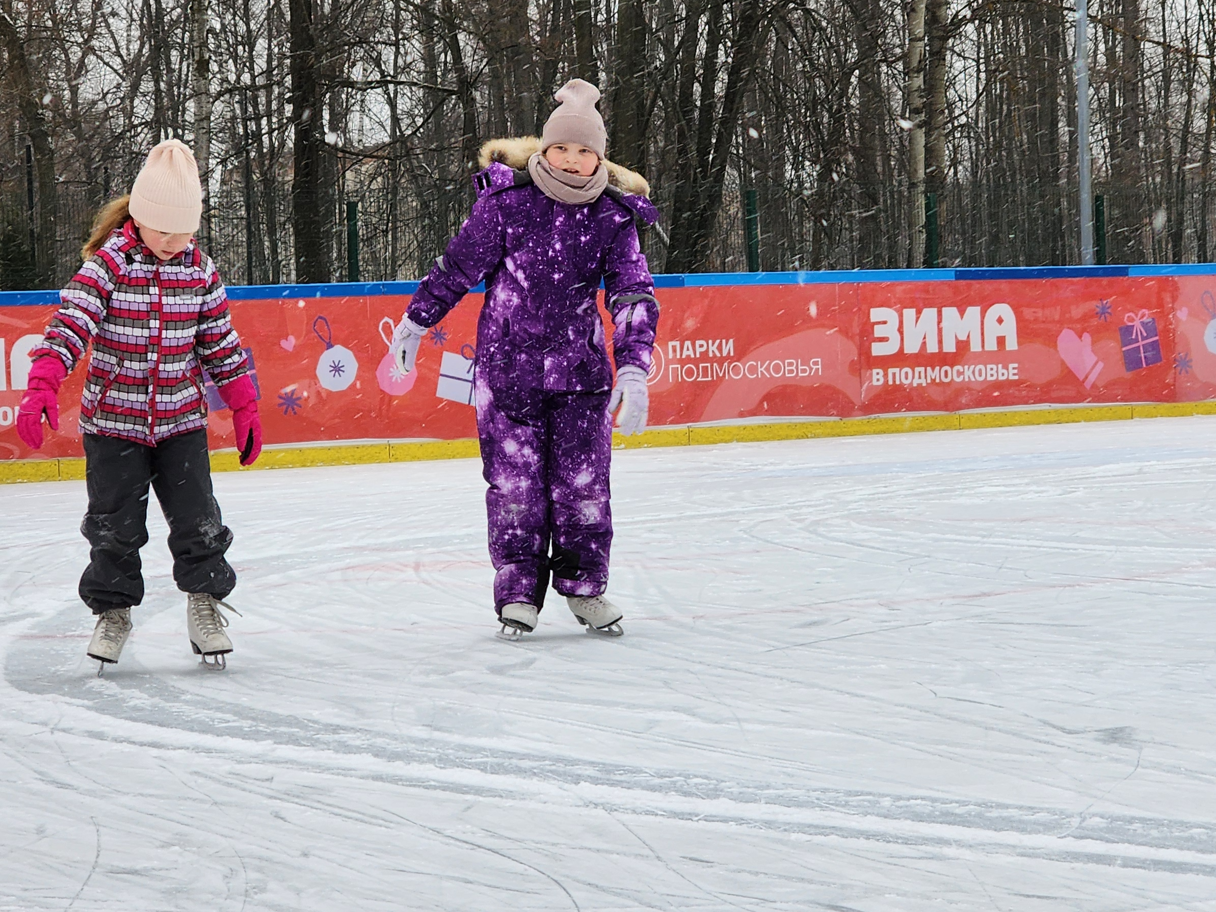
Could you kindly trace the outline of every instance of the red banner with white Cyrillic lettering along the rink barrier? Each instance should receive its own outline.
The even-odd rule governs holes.
[[[1216,398],[1216,276],[662,288],[651,424]],[[235,300],[268,444],[475,435],[482,298],[388,358],[407,295]],[[0,458],[81,455],[83,371],[38,454],[15,420],[54,306],[0,306]],[[607,314],[604,314],[607,321]],[[233,445],[212,395],[213,446]]]

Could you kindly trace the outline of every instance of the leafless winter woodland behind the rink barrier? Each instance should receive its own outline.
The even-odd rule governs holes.
[[[946,265],[1075,261],[1068,0],[891,9],[0,0],[0,285],[62,281],[167,135],[208,173],[201,235],[229,281],[349,277],[348,202],[361,276],[415,277],[472,204],[482,142],[537,133],[575,75],[604,92],[609,156],[652,184],[658,269],[745,269],[749,237],[762,269],[921,265],[925,192]],[[1108,258],[1206,259],[1212,0],[1091,9]]]

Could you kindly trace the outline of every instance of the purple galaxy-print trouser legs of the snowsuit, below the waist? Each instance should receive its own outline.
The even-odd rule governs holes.
[[[608,395],[542,389],[495,395],[478,378],[495,610],[512,602],[541,608],[550,573],[563,596],[597,596],[608,586]]]

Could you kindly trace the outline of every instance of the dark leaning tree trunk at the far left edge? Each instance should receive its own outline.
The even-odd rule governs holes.
[[[55,182],[55,147],[43,116],[43,90],[35,81],[34,73],[26,56],[26,41],[17,30],[9,13],[0,11],[0,43],[9,57],[9,83],[12,86],[26,122],[29,145],[34,151],[34,175],[38,186],[35,236],[36,250],[34,264],[38,283],[51,288],[56,283],[56,216],[58,214],[58,190]]]

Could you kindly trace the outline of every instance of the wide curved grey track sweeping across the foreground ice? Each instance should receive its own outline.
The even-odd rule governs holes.
[[[61,617],[55,629],[72,625]],[[1194,821],[1111,816],[1082,818],[1043,807],[996,803],[967,803],[928,795],[886,795],[844,789],[781,789],[762,783],[724,782],[705,776],[689,777],[676,770],[572,760],[547,754],[496,749],[492,753],[458,742],[420,743],[393,739],[382,733],[342,725],[310,721],[264,709],[223,703],[174,687],[171,680],[133,670],[112,675],[102,686],[81,677],[75,655],[50,648],[50,630],[28,640],[33,648],[10,654],[5,676],[27,693],[67,698],[102,716],[137,722],[151,728],[176,728],[326,754],[370,756],[392,764],[400,772],[389,778],[416,788],[508,798],[524,782],[542,788],[575,788],[591,806],[625,809],[634,814],[658,814],[689,821],[719,821],[773,828],[806,835],[873,839],[905,845],[946,846],[967,833],[975,846],[991,840],[993,848],[1018,855],[1052,857],[1070,863],[1087,862],[1143,867],[1150,871],[1201,873],[1216,877],[1216,828]],[[73,648],[74,648],[73,643]],[[41,647],[41,648],[39,648]],[[1118,742],[1124,731],[1103,733]],[[90,733],[100,737],[100,731]],[[170,748],[173,739],[118,738],[134,745]],[[197,749],[197,748],[193,748]],[[231,753],[216,747],[216,755]],[[236,749],[236,753],[243,753]],[[340,764],[340,759],[337,760]],[[322,767],[325,764],[321,765]],[[445,777],[444,772],[482,773],[473,779]],[[908,827],[900,824],[907,823]],[[925,833],[924,827],[942,828]],[[976,833],[975,831],[979,831]],[[1047,837],[1047,845],[1023,844],[1021,837]],[[1063,841],[1062,841],[1063,840]],[[1116,846],[1131,849],[1113,854]],[[1136,850],[1143,850],[1136,851]],[[1158,850],[1193,854],[1171,860]]]

